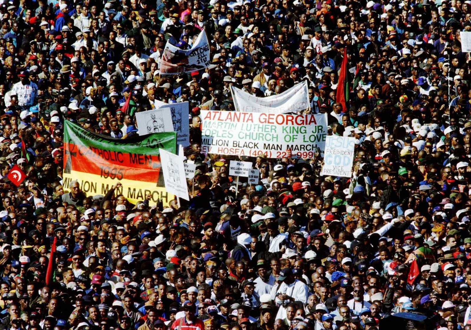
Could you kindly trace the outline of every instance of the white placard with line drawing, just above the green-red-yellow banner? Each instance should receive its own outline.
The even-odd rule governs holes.
[[[170,108],[154,109],[136,113],[139,135],[173,132]]]

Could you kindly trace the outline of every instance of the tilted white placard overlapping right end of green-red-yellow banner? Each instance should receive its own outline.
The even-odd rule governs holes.
[[[183,157],[160,149],[162,162],[163,181],[165,189],[179,198],[190,200],[188,196],[187,179],[185,177],[185,165]]]

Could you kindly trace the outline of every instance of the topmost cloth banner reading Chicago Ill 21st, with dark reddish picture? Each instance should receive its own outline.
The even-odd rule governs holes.
[[[160,61],[160,74],[180,74],[203,70],[210,64],[209,50],[208,37],[204,30],[198,35],[190,49],[180,49],[167,41]]]

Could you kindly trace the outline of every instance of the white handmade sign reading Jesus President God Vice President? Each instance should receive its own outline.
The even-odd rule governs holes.
[[[351,177],[354,153],[354,137],[327,136],[325,139],[324,166],[322,167],[321,175]]]

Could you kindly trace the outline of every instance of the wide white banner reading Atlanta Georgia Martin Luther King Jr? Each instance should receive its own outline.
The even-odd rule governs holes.
[[[314,158],[322,153],[327,114],[201,111],[202,153]]]

